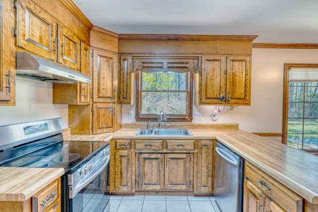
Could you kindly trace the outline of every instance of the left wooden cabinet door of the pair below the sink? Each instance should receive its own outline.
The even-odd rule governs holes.
[[[139,190],[164,189],[164,154],[140,153],[139,154]]]

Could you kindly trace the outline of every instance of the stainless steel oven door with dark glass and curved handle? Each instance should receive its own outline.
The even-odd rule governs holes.
[[[85,179],[68,186],[69,212],[109,212],[109,158],[94,168]]]

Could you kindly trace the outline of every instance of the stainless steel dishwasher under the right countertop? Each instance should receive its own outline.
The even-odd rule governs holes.
[[[222,212],[241,212],[243,158],[220,142],[215,150],[215,200]]]

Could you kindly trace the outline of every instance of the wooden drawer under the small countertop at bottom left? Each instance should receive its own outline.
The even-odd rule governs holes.
[[[32,212],[61,211],[60,210],[60,179],[54,181],[32,197]]]

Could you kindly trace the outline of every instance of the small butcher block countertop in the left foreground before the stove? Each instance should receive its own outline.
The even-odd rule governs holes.
[[[64,168],[0,167],[0,201],[26,201],[64,173]]]

